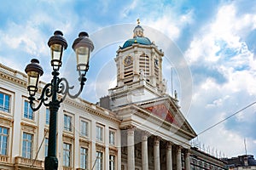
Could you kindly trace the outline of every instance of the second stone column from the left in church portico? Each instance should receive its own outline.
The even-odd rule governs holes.
[[[148,133],[142,135],[142,163],[143,170],[148,170]]]

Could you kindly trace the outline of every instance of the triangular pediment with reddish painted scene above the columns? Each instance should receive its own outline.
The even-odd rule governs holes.
[[[172,124],[172,126],[179,128],[184,133],[189,133],[195,138],[196,133],[194,129],[189,125],[189,122],[179,110],[177,100],[172,99],[172,97],[167,96],[144,101],[141,102],[139,106],[143,107],[144,110],[151,112],[152,115]]]

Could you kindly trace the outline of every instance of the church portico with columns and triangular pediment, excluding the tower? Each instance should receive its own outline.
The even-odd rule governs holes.
[[[148,109],[150,105],[153,108]],[[195,132],[170,105],[172,98],[163,97],[117,108],[115,112],[122,118],[122,170],[190,170],[189,140],[195,138]],[[156,108],[162,115],[166,113],[168,120],[175,115],[172,122],[158,116]]]

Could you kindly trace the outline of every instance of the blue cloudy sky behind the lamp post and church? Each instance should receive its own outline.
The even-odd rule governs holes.
[[[199,134],[193,144],[218,157],[246,150],[256,156],[256,105],[251,105],[256,101],[255,8],[251,0],[3,1],[0,62],[25,72],[38,58],[41,80],[49,82],[47,42],[61,30],[68,42],[61,76],[76,84],[71,47],[79,31],[87,31],[95,50],[81,97],[96,103],[115,86],[116,50],[132,37],[139,18],[144,36],[165,52],[167,91],[177,90],[181,111]]]

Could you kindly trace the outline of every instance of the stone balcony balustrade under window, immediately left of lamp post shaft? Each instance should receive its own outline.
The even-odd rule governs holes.
[[[44,168],[44,161],[27,159],[24,157],[16,156],[15,164],[18,166],[26,166],[26,167],[42,167]]]

